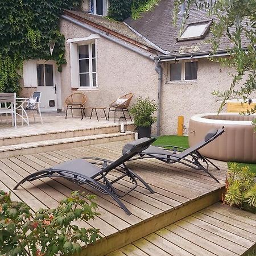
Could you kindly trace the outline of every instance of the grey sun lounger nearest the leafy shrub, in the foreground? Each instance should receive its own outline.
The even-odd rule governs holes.
[[[77,184],[86,184],[90,187],[97,189],[98,191],[112,196],[112,198],[119,204],[119,206],[130,215],[130,211],[123,205],[119,197],[123,197],[133,191],[137,186],[137,179],[140,180],[143,185],[151,192],[154,193],[153,189],[137,174],[126,167],[125,162],[138,154],[139,152],[146,150],[155,139],[142,138],[136,141],[132,147],[129,148],[120,158],[111,162],[101,158],[78,158],[70,160],[62,164],[58,164],[52,168],[35,172],[34,174],[28,175],[21,180],[14,189],[18,188],[19,185],[25,181],[32,181],[36,179],[42,179],[43,177],[64,177],[65,179],[71,180]],[[114,179],[109,180],[107,175],[110,171],[115,170],[120,175]],[[116,174],[116,172],[115,172]],[[120,195],[115,191],[113,184],[123,179],[123,177],[129,177],[130,182],[134,185],[126,193]]]

